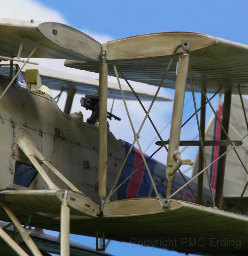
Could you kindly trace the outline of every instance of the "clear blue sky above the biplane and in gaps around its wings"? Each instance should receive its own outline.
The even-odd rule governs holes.
[[[248,1],[42,0],[39,2],[60,12],[69,25],[94,34],[107,35],[113,39],[159,31],[195,31],[248,44]],[[169,94],[173,96],[173,92]],[[190,93],[186,93],[186,99],[190,96]],[[199,102],[199,95],[197,99]],[[217,97],[214,104],[216,106]],[[184,111],[184,120],[192,112],[191,103]],[[210,116],[211,112],[208,110],[207,119]],[[162,128],[163,125],[160,127]],[[195,134],[196,130],[192,132],[192,138]],[[77,240],[76,236],[73,238]],[[94,245],[92,238],[84,238],[81,242]],[[161,249],[132,247],[119,242],[111,242],[107,252],[115,255],[182,255]]]

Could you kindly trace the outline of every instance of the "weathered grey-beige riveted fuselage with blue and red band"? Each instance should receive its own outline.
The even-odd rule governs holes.
[[[4,91],[8,83],[8,78],[0,76],[1,92]],[[0,180],[0,189],[47,188],[46,183],[37,172],[33,172],[33,178],[29,177],[29,182],[27,182],[25,172],[26,169],[30,169],[31,163],[15,143],[18,130],[23,128],[31,134],[38,144],[40,152],[56,169],[80,191],[98,202],[98,126],[84,122],[77,115],[64,114],[53,98],[43,92],[30,90],[24,86],[11,86],[0,104],[2,121],[0,129],[3,141],[1,154],[1,175],[3,178]],[[129,148],[128,142],[117,140],[112,132],[108,132],[107,195]],[[133,148],[121,172],[118,185],[142,163],[139,150]],[[59,188],[67,188],[45,166],[42,167]],[[166,166],[151,158],[148,161],[148,167],[159,194],[165,198]],[[23,173],[16,177],[17,170],[20,169]],[[188,178],[186,179],[188,180]],[[172,192],[184,183],[185,181],[177,173],[173,181]],[[196,195],[196,182],[191,182],[190,186]],[[113,194],[111,200],[135,197],[155,197],[144,165],[117,190],[117,193]],[[179,191],[174,199],[196,203],[194,196],[187,187]],[[203,204],[211,205],[208,188],[204,188]]]

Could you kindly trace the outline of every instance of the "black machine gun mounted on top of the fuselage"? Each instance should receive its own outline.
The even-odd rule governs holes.
[[[87,123],[96,124],[99,118],[99,95],[86,94],[85,97],[81,98],[80,103],[81,106],[84,107],[86,110],[90,109],[92,111],[91,116],[87,118]],[[115,120],[121,120],[120,117],[113,115],[111,112],[107,112],[107,117],[109,118],[109,120],[111,120],[112,117]]]

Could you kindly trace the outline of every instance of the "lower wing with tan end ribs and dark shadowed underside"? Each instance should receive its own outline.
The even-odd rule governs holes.
[[[52,230],[59,230],[61,200],[62,190],[1,192],[1,202],[7,203],[21,222],[25,223],[32,213],[31,226]],[[109,239],[149,241],[150,246],[155,243],[157,247],[201,255],[246,255],[248,250],[248,219],[244,215],[178,200],[171,200],[168,208],[166,199],[134,198],[106,203],[104,216],[98,218],[97,209],[94,214],[87,211],[89,206],[96,207],[89,200],[69,192],[71,233],[94,236],[98,230]],[[8,221],[3,212],[1,215],[1,219]],[[227,237],[235,243],[226,241],[230,245],[219,246],[216,252],[217,241]]]

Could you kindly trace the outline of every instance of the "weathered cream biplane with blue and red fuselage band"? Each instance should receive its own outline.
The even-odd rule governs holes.
[[[0,31],[1,59],[10,60],[8,66],[0,66],[0,220],[9,223],[0,228],[0,236],[13,255],[46,255],[26,226],[60,231],[62,256],[78,255],[70,252],[69,233],[95,236],[97,251],[105,249],[107,238],[150,241],[150,246],[157,247],[167,242],[167,249],[185,253],[247,255],[248,122],[242,94],[247,94],[248,46],[192,32],[155,33],[100,44],[66,25],[33,20],[2,20]],[[30,57],[67,59],[66,67],[99,73],[99,89],[92,81],[42,75],[42,70],[40,76],[33,68],[25,70],[24,78],[22,68],[13,61],[28,63]],[[108,75],[116,76],[119,91],[108,87]],[[129,89],[124,90],[120,78]],[[142,100],[151,95],[135,91],[132,81],[157,86],[149,109]],[[81,100],[82,106],[92,110],[87,122],[81,113],[68,115],[80,84],[94,86],[99,95]],[[51,97],[48,87],[53,86],[68,91],[67,113]],[[175,89],[168,140],[161,137],[149,115],[156,99],[166,100],[158,98],[161,87]],[[186,90],[193,96],[196,141],[180,140]],[[198,109],[196,92],[201,92]],[[109,131],[107,118],[118,118],[107,112],[111,93],[123,100],[134,133],[131,144]],[[214,93],[211,98],[224,93],[218,111],[208,93]],[[128,97],[135,97],[144,109],[139,130],[130,117]],[[206,105],[214,118],[205,131]],[[154,154],[143,154],[139,139],[146,119],[160,139],[154,154],[162,148],[168,151],[164,164],[155,161]],[[183,159],[179,146],[198,146],[197,164]],[[180,167],[193,164],[192,178],[184,177]],[[6,233],[11,225],[12,238]],[[23,243],[16,243],[20,237],[26,252]]]

